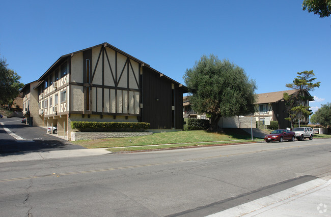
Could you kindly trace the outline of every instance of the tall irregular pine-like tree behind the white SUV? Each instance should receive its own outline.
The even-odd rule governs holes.
[[[309,106],[305,105],[307,101],[313,101],[313,97],[308,94],[309,91],[313,91],[315,87],[319,87],[320,81],[313,83],[316,78],[313,70],[298,72],[296,78],[294,78],[293,83],[286,84],[286,87],[295,89],[296,92],[289,95],[287,92],[284,93],[284,100],[286,105],[286,111],[289,117],[285,118],[291,122],[291,128],[293,129],[294,123],[301,117],[308,117],[312,114]]]

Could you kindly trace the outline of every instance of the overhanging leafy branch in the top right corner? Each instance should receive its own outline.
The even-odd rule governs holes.
[[[328,17],[331,14],[331,0],[305,0],[302,3],[302,10],[314,12],[320,18]]]

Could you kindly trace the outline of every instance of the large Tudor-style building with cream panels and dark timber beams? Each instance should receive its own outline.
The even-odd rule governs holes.
[[[187,88],[143,61],[103,43],[61,56],[38,80],[38,115],[70,138],[71,121],[149,122],[183,129]]]

